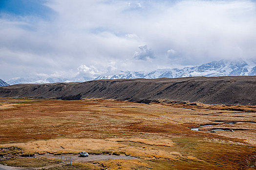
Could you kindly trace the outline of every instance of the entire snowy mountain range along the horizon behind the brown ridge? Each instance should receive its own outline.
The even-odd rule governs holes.
[[[249,64],[248,64],[249,63]],[[70,82],[85,82],[90,80],[100,79],[155,79],[155,78],[179,78],[179,77],[216,77],[216,76],[255,76],[256,75],[256,60],[246,62],[242,59],[219,60],[206,63],[195,67],[165,68],[154,71],[118,71],[116,74],[103,74],[95,79],[87,77],[59,78],[59,77],[30,77],[30,78],[12,78],[6,82],[9,85],[14,84],[47,84],[47,83],[70,83]]]

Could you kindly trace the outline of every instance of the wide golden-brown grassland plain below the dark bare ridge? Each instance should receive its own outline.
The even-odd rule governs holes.
[[[232,121],[235,124],[224,124]],[[204,124],[201,131],[191,128]],[[230,131],[211,133],[211,128]],[[256,162],[256,107],[191,104],[143,104],[113,100],[0,99],[0,143],[10,166],[28,165],[19,154],[130,155],[75,163],[59,169],[253,169]],[[209,131],[210,130],[210,131]],[[33,159],[31,167],[55,165]],[[24,167],[24,166],[23,166]]]

